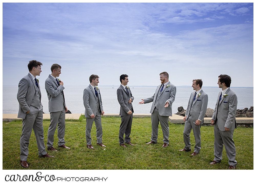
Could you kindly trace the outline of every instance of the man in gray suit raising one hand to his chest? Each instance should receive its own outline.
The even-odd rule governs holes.
[[[54,133],[58,123],[58,147],[70,149],[65,146],[65,112],[66,107],[65,97],[63,93],[63,82],[57,78],[61,74],[61,66],[52,64],[51,74],[45,80],[45,90],[49,100],[50,126],[48,129],[47,150],[57,151],[53,147]]]

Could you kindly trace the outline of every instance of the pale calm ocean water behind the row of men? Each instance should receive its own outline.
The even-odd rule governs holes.
[[[65,86],[64,94],[68,110],[72,113],[83,113],[83,90],[87,86]],[[105,113],[119,114],[120,105],[117,100],[116,90],[119,86],[99,86],[102,104]],[[141,99],[146,99],[153,96],[157,86],[129,86],[134,96],[133,108],[136,114],[150,114],[151,103],[148,104],[138,104]],[[203,91],[208,94],[208,106],[207,108],[215,108],[216,101],[218,98],[218,93],[220,88],[218,87],[202,87]],[[238,97],[238,109],[244,109],[245,107],[250,108],[253,106],[253,88],[244,87],[231,87]],[[19,103],[17,101],[18,86],[3,85],[3,114],[17,114],[19,109]],[[193,92],[192,87],[177,87],[177,93],[175,101],[172,105],[173,114],[178,112],[177,108],[183,106],[184,109],[187,108],[188,99],[191,92]],[[42,105],[43,111],[49,113],[48,109],[48,98],[44,86],[41,86],[42,93]]]

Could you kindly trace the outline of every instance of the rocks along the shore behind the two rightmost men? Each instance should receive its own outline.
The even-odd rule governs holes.
[[[212,108],[207,108],[205,117],[212,117],[214,110]],[[186,110],[184,110],[183,106],[178,107],[178,112],[175,113],[176,115],[179,116],[185,116]],[[244,109],[237,109],[236,117],[253,117],[253,106]]]

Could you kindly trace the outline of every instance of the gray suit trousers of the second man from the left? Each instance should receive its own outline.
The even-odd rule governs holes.
[[[63,106],[62,111],[50,112],[50,126],[48,129],[47,138],[47,148],[53,147],[54,133],[58,123],[58,146],[64,145],[64,135],[65,135],[65,106]]]

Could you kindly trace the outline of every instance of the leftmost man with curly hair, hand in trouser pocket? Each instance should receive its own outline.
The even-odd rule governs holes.
[[[44,144],[43,106],[41,103],[41,91],[39,76],[43,64],[36,60],[28,63],[29,73],[19,81],[17,100],[19,102],[18,118],[22,118],[22,134],[20,136],[20,163],[28,168],[28,145],[32,128],[36,136],[38,155],[40,157],[54,157],[47,154]]]

